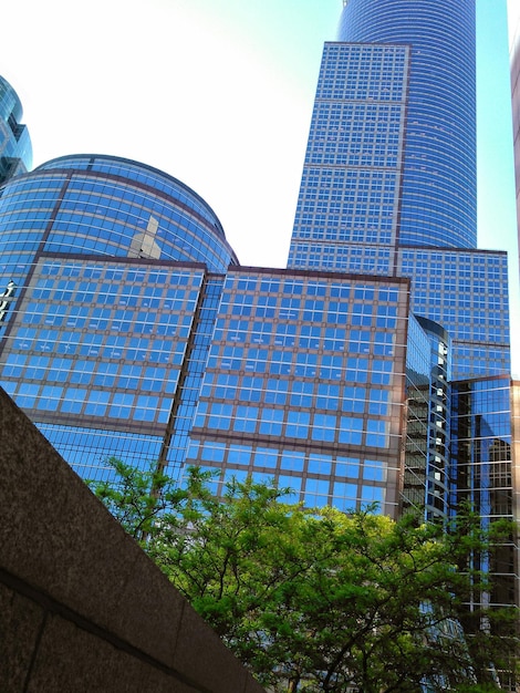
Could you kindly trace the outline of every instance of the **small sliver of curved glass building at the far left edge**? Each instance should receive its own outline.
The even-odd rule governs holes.
[[[32,165],[29,131],[20,123],[22,114],[17,92],[0,76],[0,184]]]

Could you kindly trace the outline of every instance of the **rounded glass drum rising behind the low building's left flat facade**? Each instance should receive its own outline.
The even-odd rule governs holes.
[[[4,262],[21,248],[205,262],[217,272],[237,262],[209,205],[180,180],[144,164],[64,156],[0,194]]]

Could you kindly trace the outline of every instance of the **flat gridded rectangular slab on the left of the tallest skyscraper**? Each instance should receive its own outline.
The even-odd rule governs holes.
[[[290,268],[392,275],[407,46],[325,43]]]

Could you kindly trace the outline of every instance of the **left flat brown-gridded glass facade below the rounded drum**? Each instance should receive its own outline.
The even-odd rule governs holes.
[[[37,261],[3,345],[2,386],[82,474],[119,454],[106,449],[106,430],[125,445],[149,438],[132,459],[158,459],[202,279],[196,266]]]

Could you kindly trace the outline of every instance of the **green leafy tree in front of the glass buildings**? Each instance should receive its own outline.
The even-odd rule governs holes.
[[[305,509],[251,478],[217,498],[198,468],[179,489],[162,473],[111,464],[118,484],[93,484],[96,495],[271,690],[497,690],[491,662],[505,648],[490,623],[514,614],[481,614],[478,637],[462,625],[465,604],[490,588],[469,557],[502,526],[483,532],[469,511],[443,528],[375,507]]]

